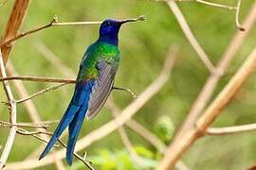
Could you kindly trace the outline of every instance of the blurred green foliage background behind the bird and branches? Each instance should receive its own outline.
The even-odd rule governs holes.
[[[3,35],[13,0],[0,8],[0,31]],[[235,1],[221,2],[235,6]],[[243,1],[241,20],[255,1]],[[233,34],[235,12],[229,9],[212,8],[193,3],[178,3],[192,32],[203,46],[210,60],[215,64],[225,51]],[[139,123],[155,133],[165,144],[170,140],[182,120],[190,110],[194,99],[200,92],[209,72],[187,42],[173,13],[165,3],[149,0],[62,0],[31,1],[22,31],[48,23],[54,15],[60,22],[99,21],[105,18],[129,18],[147,15],[148,20],[123,26],[119,34],[121,63],[116,85],[127,87],[136,93],[142,92],[159,74],[170,46],[178,46],[178,60],[174,72],[164,88],[153,97],[134,117]],[[47,28],[15,43],[10,55],[17,72],[22,76],[64,77],[38,51],[37,44],[46,46],[59,59],[75,72],[85,48],[98,38],[99,26],[56,26]],[[230,63],[228,74],[223,76],[214,94],[218,93],[239,65],[255,46],[256,28]],[[29,93],[48,87],[47,83],[26,82]],[[45,93],[33,99],[43,120],[59,120],[68,105],[73,86]],[[17,94],[15,93],[15,96]],[[133,99],[127,93],[114,92],[114,100],[120,108],[125,108]],[[18,97],[16,97],[18,98]],[[255,116],[256,76],[251,76],[247,85],[236,95],[229,107],[214,122],[214,127],[227,127],[256,122]],[[5,100],[1,90],[1,100]],[[0,119],[8,120],[6,107],[0,107]],[[101,127],[112,119],[109,110],[103,109],[92,121],[84,123],[80,137],[91,130]],[[18,121],[30,122],[27,110],[18,107]],[[55,127],[54,125],[53,127]],[[53,129],[53,127],[51,129]],[[123,146],[119,133],[111,133],[101,141],[86,148],[88,160],[100,169],[154,169],[161,155],[155,147],[144,141],[134,131],[126,128],[129,139],[137,153],[144,158],[144,167],[138,166]],[[5,144],[9,129],[0,128],[0,145]],[[256,132],[243,134],[205,137],[192,145],[184,155],[183,161],[192,169],[245,169],[256,162]],[[17,135],[11,150],[9,161],[22,161],[42,142],[28,136]],[[0,150],[1,152],[1,150]],[[66,165],[66,164],[65,164]],[[76,161],[72,169],[82,169]],[[39,168],[39,169],[46,169]],[[55,169],[55,166],[47,166]]]

